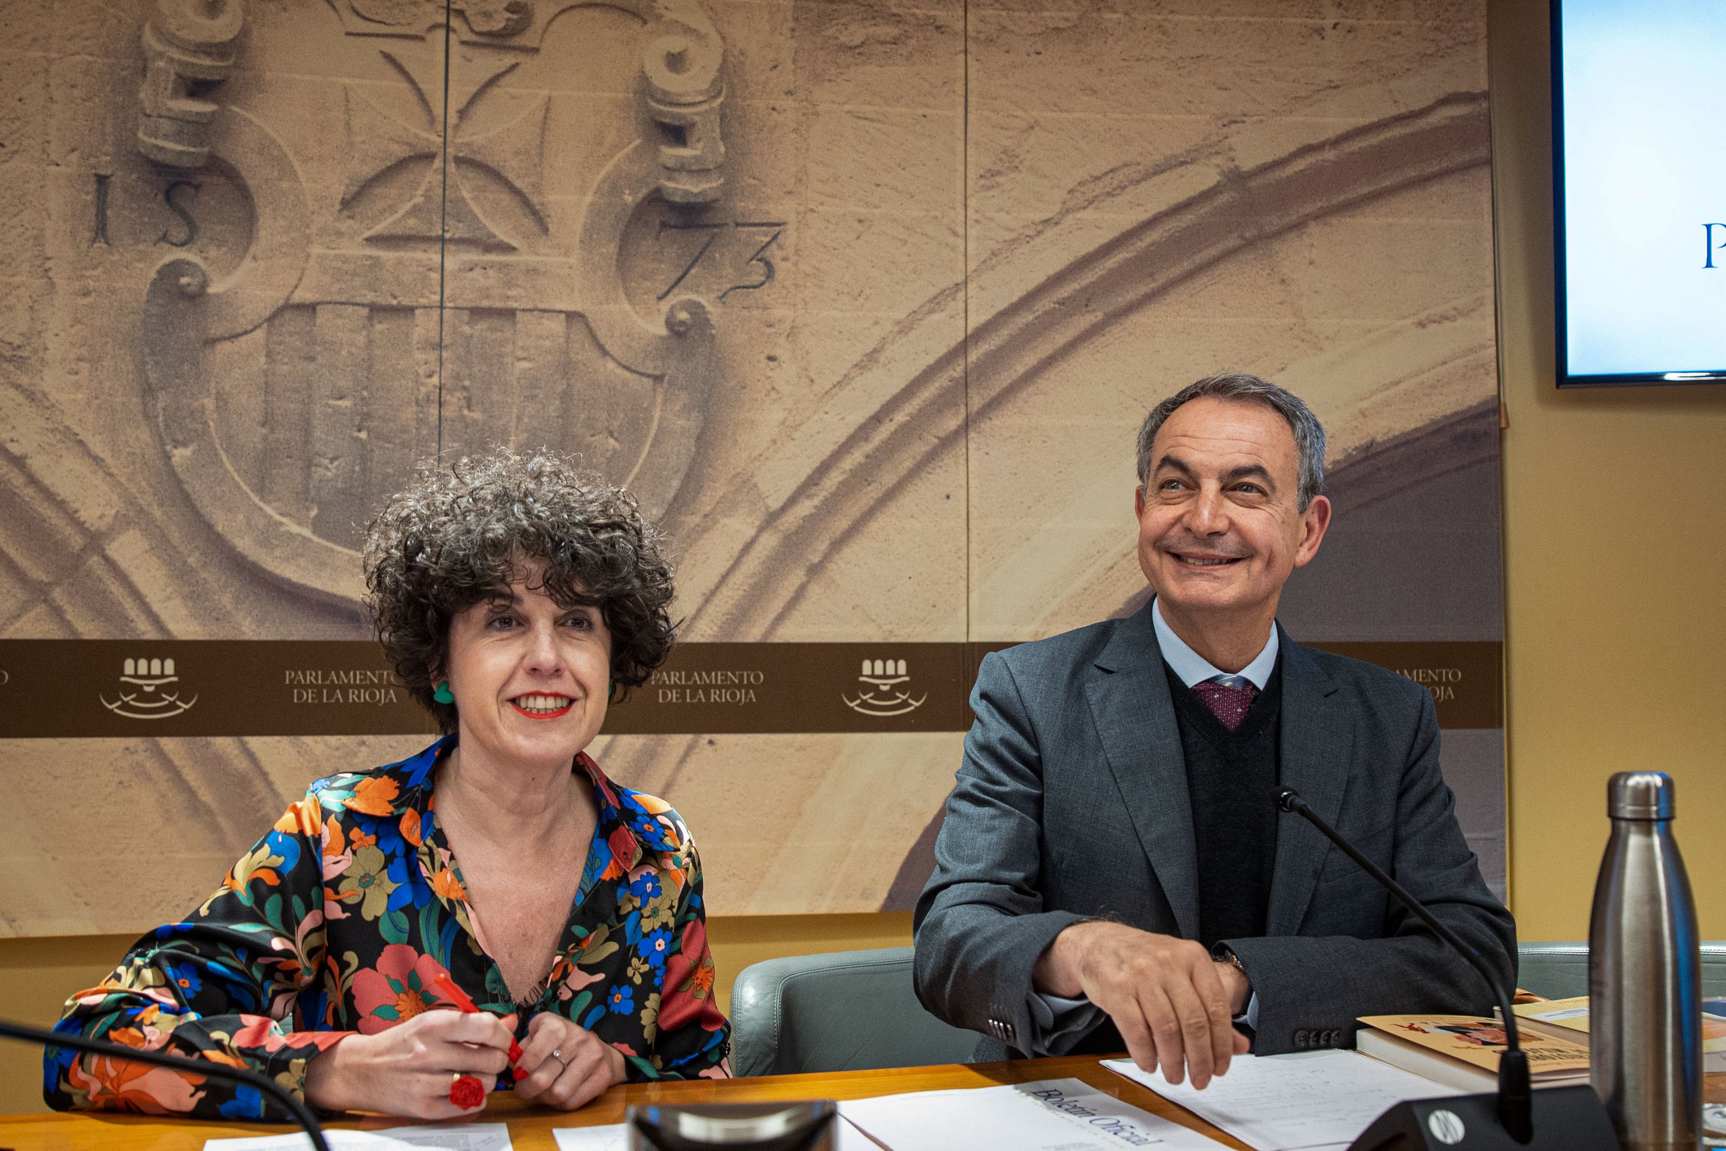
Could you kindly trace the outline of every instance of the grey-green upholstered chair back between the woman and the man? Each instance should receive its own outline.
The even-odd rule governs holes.
[[[734,1075],[963,1063],[977,1039],[917,1001],[910,947],[768,959],[732,987]]]

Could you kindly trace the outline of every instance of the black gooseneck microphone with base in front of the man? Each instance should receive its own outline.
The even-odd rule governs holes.
[[[1293,787],[1281,787],[1276,792],[1279,811],[1301,816],[1326,839],[1336,844],[1343,854],[1353,859],[1362,871],[1379,882],[1384,890],[1396,896],[1396,901],[1408,908],[1410,915],[1427,925],[1434,935],[1445,940],[1452,951],[1460,954],[1486,980],[1486,987],[1498,1001],[1498,1015],[1505,1027],[1505,1049],[1498,1056],[1498,1092],[1495,1096],[1460,1096],[1452,1099],[1426,1099],[1398,1103],[1376,1118],[1350,1151],[1374,1151],[1395,1139],[1410,1139],[1410,1148],[1433,1148],[1433,1151],[1472,1151],[1479,1148],[1502,1146],[1502,1137],[1509,1135],[1515,1144],[1534,1144],[1536,1148],[1565,1148],[1565,1151],[1602,1151],[1617,1149],[1617,1137],[1612,1134],[1605,1108],[1593,1087],[1552,1087],[1540,1092],[1536,1103],[1529,1084],[1528,1054],[1522,1051],[1517,1035],[1515,1013],[1510,1011],[1510,996],[1493,978],[1486,959],[1469,946],[1457,932],[1450,930],[1436,915],[1410,896],[1402,884],[1384,873],[1379,865],[1360,854],[1360,851],[1343,839],[1343,835],[1324,821],[1312,806],[1300,797]],[[1471,1130],[1465,1115],[1495,1118],[1502,1135],[1490,1130]],[[1534,1120],[1540,1116],[1540,1135],[1534,1139]],[[1476,1129],[1481,1123],[1476,1122]],[[1496,1135],[1496,1137],[1493,1137]]]

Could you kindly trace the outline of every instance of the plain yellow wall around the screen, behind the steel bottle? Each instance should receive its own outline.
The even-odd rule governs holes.
[[[1726,388],[1553,387],[1546,40],[1546,0],[1491,0],[1512,909],[1586,939],[1607,777],[1659,770],[1723,939]]]

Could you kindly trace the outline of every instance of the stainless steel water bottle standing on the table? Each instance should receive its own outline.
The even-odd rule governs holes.
[[[1702,1135],[1702,953],[1672,839],[1672,777],[1607,783],[1612,839],[1588,921],[1588,1049],[1624,1151],[1695,1151]]]

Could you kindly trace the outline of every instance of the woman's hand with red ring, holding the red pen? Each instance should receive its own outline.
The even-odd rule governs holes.
[[[475,1075],[490,1094],[509,1066],[509,1028],[495,1015],[426,1011],[376,1035],[349,1035],[306,1065],[306,1099],[330,1111],[383,1111],[457,1118],[456,1075]],[[480,1104],[483,1108],[483,1103]]]

